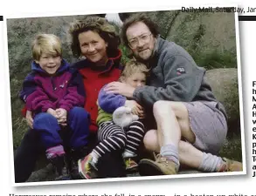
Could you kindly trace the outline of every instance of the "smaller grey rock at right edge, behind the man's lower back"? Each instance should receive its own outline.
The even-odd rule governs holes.
[[[238,70],[214,69],[206,71],[206,80],[215,97],[225,105],[228,132],[240,132]]]

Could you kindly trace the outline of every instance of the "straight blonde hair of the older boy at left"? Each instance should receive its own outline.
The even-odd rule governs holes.
[[[45,53],[52,57],[61,57],[61,41],[53,34],[39,34],[32,42],[32,56],[34,60],[39,60]]]

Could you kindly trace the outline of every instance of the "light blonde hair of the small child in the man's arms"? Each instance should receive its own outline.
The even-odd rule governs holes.
[[[121,72],[120,80],[130,77],[136,72],[142,72],[147,77],[149,75],[149,69],[146,64],[142,64],[136,60],[130,60],[125,64],[123,71]]]

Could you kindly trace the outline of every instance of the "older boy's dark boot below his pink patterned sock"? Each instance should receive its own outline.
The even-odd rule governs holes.
[[[52,166],[55,168],[56,179],[55,180],[69,180],[71,179],[68,172],[68,166],[66,164],[66,155],[56,156],[50,159]]]

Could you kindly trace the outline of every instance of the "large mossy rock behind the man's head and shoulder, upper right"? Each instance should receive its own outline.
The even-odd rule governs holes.
[[[237,67],[234,13],[180,10],[144,13],[159,26],[163,38],[182,46],[199,66],[208,70]],[[133,14],[136,12],[120,13],[121,20]]]

